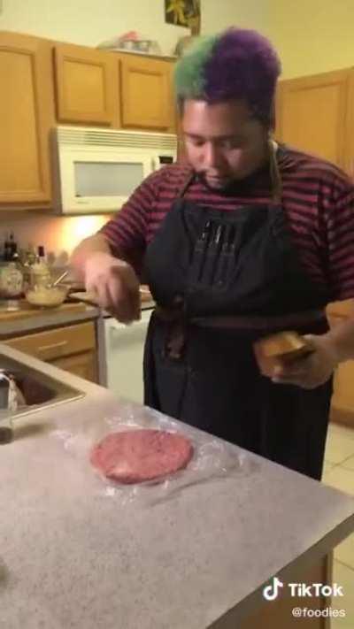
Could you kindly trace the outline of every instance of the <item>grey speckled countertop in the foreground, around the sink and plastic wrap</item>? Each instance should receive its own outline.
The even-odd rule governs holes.
[[[17,439],[1,446],[4,629],[219,628],[227,612],[236,627],[274,574],[311,565],[354,529],[350,496],[235,446],[244,472],[149,508],[120,504],[50,430],[123,413],[122,403],[1,343],[0,353],[86,393],[18,419]]]

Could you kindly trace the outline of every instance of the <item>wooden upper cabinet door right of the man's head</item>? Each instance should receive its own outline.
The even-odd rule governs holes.
[[[281,81],[276,139],[347,169],[350,70]]]

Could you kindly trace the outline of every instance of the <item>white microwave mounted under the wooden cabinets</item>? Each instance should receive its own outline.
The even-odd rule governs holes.
[[[57,127],[54,157],[57,213],[112,213],[150,173],[175,161],[177,136]]]

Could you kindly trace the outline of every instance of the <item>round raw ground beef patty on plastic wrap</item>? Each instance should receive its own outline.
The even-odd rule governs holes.
[[[90,461],[107,479],[128,484],[177,472],[192,456],[193,446],[181,434],[142,429],[108,434]]]

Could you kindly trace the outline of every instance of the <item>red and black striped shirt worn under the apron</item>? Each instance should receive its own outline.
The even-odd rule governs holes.
[[[352,183],[335,165],[283,145],[277,159],[282,207],[304,269],[313,281],[327,288],[330,301],[354,297]],[[131,261],[138,272],[147,245],[189,173],[189,166],[179,164],[152,173],[101,229],[112,249]],[[226,191],[212,190],[196,177],[184,197],[224,211],[247,204],[272,203],[268,169],[235,182]]]

